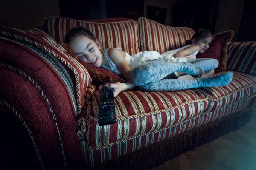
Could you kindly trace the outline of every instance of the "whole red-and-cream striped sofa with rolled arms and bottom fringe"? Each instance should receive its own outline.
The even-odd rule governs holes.
[[[104,49],[121,47],[130,55],[182,47],[195,32],[146,18],[53,16],[39,29],[1,26],[1,164],[43,170],[149,169],[250,122],[256,42],[231,42],[224,63],[224,71],[233,72],[229,85],[123,91],[115,98],[116,123],[99,126],[100,93],[87,70],[61,46],[75,26],[93,31]]]

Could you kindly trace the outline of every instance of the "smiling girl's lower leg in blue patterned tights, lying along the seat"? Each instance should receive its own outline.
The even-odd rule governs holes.
[[[232,80],[233,73],[226,72],[212,77],[201,77],[196,79],[163,79],[158,82],[148,83],[137,87],[139,91],[180,91],[199,87],[218,87],[228,85]]]

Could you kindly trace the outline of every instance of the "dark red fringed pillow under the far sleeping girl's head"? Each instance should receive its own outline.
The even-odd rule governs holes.
[[[234,31],[227,30],[218,34],[215,34],[211,45],[204,51],[204,53],[198,53],[196,58],[214,58],[219,62],[215,72],[226,71],[226,58],[227,48],[234,36]]]

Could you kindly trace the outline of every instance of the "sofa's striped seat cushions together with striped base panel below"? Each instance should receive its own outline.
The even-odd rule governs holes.
[[[242,78],[241,78],[242,77]],[[121,92],[115,98],[116,124],[99,126],[100,94],[90,97],[79,122],[88,166],[96,166],[242,111],[256,96],[256,77],[234,72],[230,85],[179,92]]]

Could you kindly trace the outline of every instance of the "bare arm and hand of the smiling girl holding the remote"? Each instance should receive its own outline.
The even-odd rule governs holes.
[[[125,52],[116,48],[110,48],[108,49],[108,56],[113,61],[113,63],[117,66],[122,76],[125,77],[125,80],[128,81],[127,83],[117,82],[117,83],[109,83],[108,85],[106,85],[107,87],[116,89],[116,91],[114,91],[114,97],[117,96],[121,91],[134,90],[135,85],[131,83],[131,68],[129,67],[128,63],[125,61],[125,57],[126,57]]]

